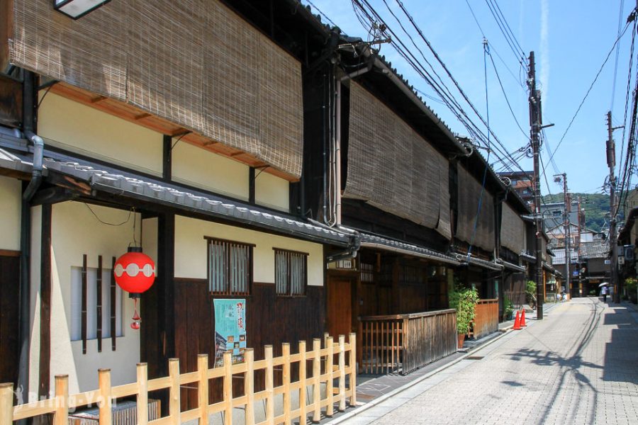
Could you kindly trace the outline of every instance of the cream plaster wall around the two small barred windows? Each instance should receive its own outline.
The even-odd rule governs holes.
[[[313,242],[256,232],[194,218],[175,217],[175,277],[205,279],[207,241],[204,236],[255,244],[253,278],[274,283],[273,248],[307,252],[308,285],[323,285],[323,246]]]

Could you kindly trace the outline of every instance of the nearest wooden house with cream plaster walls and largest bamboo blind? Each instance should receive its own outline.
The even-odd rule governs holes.
[[[246,300],[248,346],[323,336],[325,250],[355,239],[302,214],[323,26],[296,1],[0,5],[0,381],[38,397],[58,373],[77,392],[85,370],[194,370],[218,298]],[[156,264],[140,330],[111,273],[128,246]]]

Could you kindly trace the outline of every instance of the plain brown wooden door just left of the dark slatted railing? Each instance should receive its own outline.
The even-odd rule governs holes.
[[[328,334],[335,340],[339,335],[348,335],[352,329],[352,280],[328,278],[328,295],[326,302],[326,319]]]

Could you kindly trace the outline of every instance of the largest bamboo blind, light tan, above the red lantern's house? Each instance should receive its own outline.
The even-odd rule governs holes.
[[[111,1],[72,21],[13,0],[13,16],[13,64],[301,176],[301,64],[219,1]]]

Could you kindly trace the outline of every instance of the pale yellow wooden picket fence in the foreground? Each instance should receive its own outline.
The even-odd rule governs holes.
[[[356,337],[349,335],[346,343],[344,336],[339,336],[337,343],[332,337],[313,340],[312,351],[306,352],[306,341],[299,342],[299,351],[290,353],[290,344],[282,345],[283,355],[273,358],[272,346],[264,347],[264,360],[254,361],[252,348],[245,351],[245,362],[231,364],[231,352],[224,353],[223,366],[208,369],[208,355],[198,356],[198,368],[195,372],[179,373],[179,360],[169,360],[169,376],[147,380],[147,364],[139,363],[137,382],[111,387],[111,370],[99,370],[99,389],[82,392],[69,396],[69,382],[67,375],[55,376],[55,397],[50,399],[19,404],[13,407],[13,385],[0,384],[0,425],[11,425],[12,421],[33,418],[43,414],[53,414],[53,424],[68,425],[69,409],[98,404],[99,424],[111,425],[111,407],[113,400],[118,397],[135,396],[137,398],[138,425],[168,425],[198,419],[199,425],[208,425],[209,415],[223,414],[223,423],[233,424],[233,408],[245,409],[243,423],[256,423],[254,404],[265,401],[265,420],[259,424],[291,424],[293,419],[300,419],[301,424],[308,423],[308,415],[312,421],[319,421],[322,410],[326,416],[332,416],[337,409],[346,408],[357,402],[356,385],[357,370],[354,367],[356,359]],[[346,353],[349,353],[346,362]],[[335,357],[337,361],[335,362]],[[298,363],[298,380],[291,382],[291,364]],[[310,373],[307,370],[311,363]],[[274,386],[274,370],[281,368],[282,385]],[[265,390],[254,391],[254,374],[263,370],[266,377]],[[243,395],[233,397],[233,375],[242,375],[244,380]],[[308,377],[310,375],[310,377]],[[346,385],[346,378],[349,378]],[[210,380],[223,380],[223,401],[209,404]],[[334,380],[337,387],[333,387]],[[180,385],[197,384],[198,406],[186,412],[180,410]],[[322,391],[322,387],[323,390]],[[169,390],[168,416],[153,421],[147,420],[148,393],[162,389]],[[312,402],[308,403],[306,390],[311,390]],[[298,408],[292,409],[291,399],[294,393],[298,395]],[[283,395],[283,408],[278,408],[275,416],[275,397]],[[238,421],[235,421],[237,423]]]

